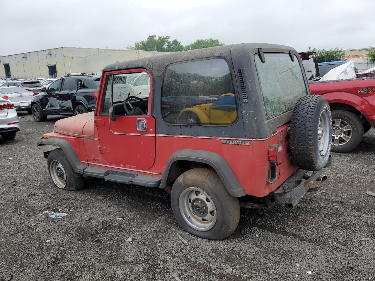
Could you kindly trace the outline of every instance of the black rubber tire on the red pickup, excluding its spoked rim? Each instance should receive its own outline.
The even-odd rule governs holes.
[[[363,123],[360,118],[350,111],[334,110],[332,111],[332,123],[335,123],[335,120],[343,120],[346,124],[350,125],[351,138],[348,142],[342,143],[341,145],[332,143],[332,151],[349,152],[356,148],[362,141],[364,134]],[[333,130],[335,130],[335,128]],[[334,136],[335,133],[332,137],[332,141],[334,141]]]

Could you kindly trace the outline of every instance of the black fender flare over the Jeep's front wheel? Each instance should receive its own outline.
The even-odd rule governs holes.
[[[66,157],[68,157],[69,162],[71,163],[73,169],[77,173],[83,174],[83,170],[87,168],[86,165],[81,163],[80,159],[77,156],[77,153],[75,153],[74,148],[66,139],[58,139],[58,138],[45,139],[42,137],[39,139],[39,141],[36,144],[36,146],[40,146],[40,145],[53,145],[53,146],[60,147],[64,151]],[[48,154],[49,154],[49,151],[44,152],[44,157],[47,158]]]

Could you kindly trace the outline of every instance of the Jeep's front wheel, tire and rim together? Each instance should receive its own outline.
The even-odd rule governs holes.
[[[84,188],[83,175],[75,172],[68,157],[61,148],[49,152],[47,157],[48,172],[54,184],[64,190]]]

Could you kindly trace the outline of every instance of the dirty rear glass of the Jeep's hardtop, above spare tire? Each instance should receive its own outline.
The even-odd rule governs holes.
[[[255,55],[255,65],[262,89],[267,118],[291,111],[297,100],[305,96],[305,81],[298,58],[289,54],[264,54],[266,62]]]

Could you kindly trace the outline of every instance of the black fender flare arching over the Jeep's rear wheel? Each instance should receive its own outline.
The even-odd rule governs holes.
[[[164,169],[162,181],[160,182],[160,188],[164,188],[166,185],[171,165],[175,161],[180,160],[193,161],[210,165],[216,171],[217,175],[219,175],[229,194],[234,197],[241,197],[246,195],[245,190],[243,190],[242,185],[237,179],[237,176],[234,174],[232,168],[223,157],[214,152],[194,149],[182,149],[174,152],[171,157],[169,157]]]

